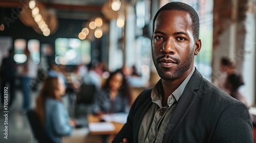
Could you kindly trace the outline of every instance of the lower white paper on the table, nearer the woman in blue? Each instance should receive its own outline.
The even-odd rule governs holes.
[[[89,123],[89,130],[91,132],[113,131],[115,130],[115,126],[107,122]]]

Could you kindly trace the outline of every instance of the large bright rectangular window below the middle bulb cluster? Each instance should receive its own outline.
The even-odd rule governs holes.
[[[55,40],[55,62],[62,65],[90,63],[91,42],[77,38],[57,38]]]

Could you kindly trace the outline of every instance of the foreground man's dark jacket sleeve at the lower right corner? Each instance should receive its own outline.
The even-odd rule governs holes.
[[[210,142],[253,142],[248,108],[240,102],[227,106],[219,117]]]

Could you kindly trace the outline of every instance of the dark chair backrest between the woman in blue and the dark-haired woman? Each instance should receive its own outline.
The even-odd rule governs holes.
[[[77,94],[77,103],[92,104],[95,92],[95,85],[82,84]]]

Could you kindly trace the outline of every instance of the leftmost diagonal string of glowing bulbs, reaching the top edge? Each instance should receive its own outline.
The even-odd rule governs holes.
[[[29,2],[29,8],[31,9],[32,16],[34,17],[35,22],[37,23],[38,27],[42,31],[42,34],[45,36],[49,36],[51,31],[48,28],[45,20],[42,18],[42,15],[39,13],[39,8],[36,7],[35,0],[31,0]]]

